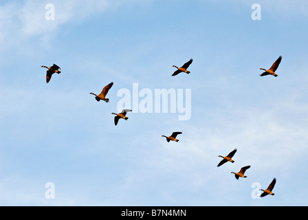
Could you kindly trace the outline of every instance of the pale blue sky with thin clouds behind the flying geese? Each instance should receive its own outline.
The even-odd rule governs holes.
[[[307,206],[307,7],[1,0],[0,205]],[[280,55],[278,77],[259,76]],[[170,76],[190,58],[189,75]],[[41,65],[53,63],[62,73],[47,84]],[[89,95],[111,82],[110,102]],[[191,118],[128,113],[114,126],[117,92],[133,83],[191,89]],[[161,137],[173,131],[179,142]],[[254,199],[274,177],[275,195]]]

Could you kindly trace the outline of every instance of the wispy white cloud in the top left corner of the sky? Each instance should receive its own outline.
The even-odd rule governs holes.
[[[2,50],[22,47],[28,39],[40,36],[46,43],[61,25],[80,22],[122,1],[52,1],[55,19],[45,19],[46,1],[10,1],[0,6],[0,46]],[[37,42],[36,42],[37,43]]]

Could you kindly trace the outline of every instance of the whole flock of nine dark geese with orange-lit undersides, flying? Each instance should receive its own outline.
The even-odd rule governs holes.
[[[275,73],[276,69],[278,68],[278,65],[281,63],[281,59],[282,56],[279,56],[278,59],[273,63],[272,67],[270,67],[270,69],[264,69],[264,68],[260,68],[261,70],[264,70],[265,72],[263,72],[260,76],[267,76],[267,75],[272,75],[277,77],[278,75]],[[171,75],[171,76],[177,76],[177,74],[180,74],[182,72],[186,73],[186,74],[190,74],[190,71],[188,71],[188,67],[190,66],[190,64],[192,63],[192,58],[184,63],[184,65],[182,65],[181,67],[177,67],[175,65],[173,65],[173,67],[177,68],[177,70]],[[42,65],[41,67],[45,67],[47,68],[47,73],[46,73],[46,83],[49,83],[52,75],[54,73],[60,74],[60,67],[58,67],[58,65],[54,64],[51,67],[46,67],[44,65]],[[95,96],[95,99],[99,102],[100,100],[103,100],[105,102],[109,102],[109,98],[106,98],[107,93],[109,91],[109,89],[111,89],[111,87],[113,86],[113,82],[109,83],[108,85],[106,85],[102,91],[100,92],[99,95],[96,95],[94,93],[90,93],[91,95]],[[118,124],[118,121],[122,118],[124,120],[128,120],[129,118],[126,117],[126,113],[128,113],[129,111],[131,111],[131,109],[123,109],[122,112],[120,113],[111,113],[113,115],[115,115],[114,117],[114,124],[115,126]],[[174,142],[179,142],[179,140],[176,138],[177,135],[181,134],[181,132],[176,131],[173,132],[170,136],[166,136],[166,135],[162,135],[162,137],[166,137],[166,141],[170,142],[170,141],[174,141]],[[236,153],[237,149],[234,148],[233,151],[231,151],[228,155],[226,155],[225,157],[219,155],[218,157],[222,157],[223,159],[221,160],[221,162],[219,162],[219,164],[217,165],[218,167],[225,164],[226,162],[231,162],[234,163],[234,160],[232,159],[232,157],[234,156],[234,154]],[[234,173],[231,172],[232,174],[234,174],[236,179],[239,179],[239,177],[247,177],[244,175],[245,171],[248,170],[248,168],[250,168],[250,166],[243,166],[241,168],[241,170],[239,170],[238,173]],[[276,178],[274,178],[272,180],[272,182],[270,183],[270,185],[267,187],[266,190],[260,189],[263,191],[263,193],[260,195],[260,197],[265,197],[266,195],[274,195],[274,193],[272,192],[274,186],[276,184]]]

